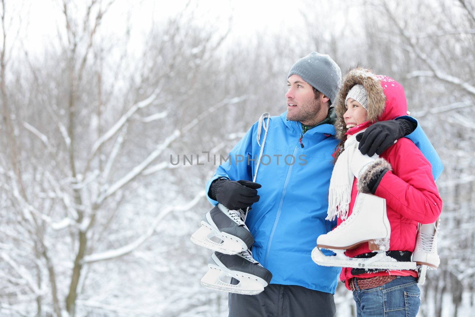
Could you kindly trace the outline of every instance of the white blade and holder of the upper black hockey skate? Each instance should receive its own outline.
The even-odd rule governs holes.
[[[215,238],[219,242],[213,241],[211,238]],[[243,240],[227,233],[219,232],[205,221],[201,221],[201,228],[191,235],[190,240],[201,247],[230,255],[248,249]]]

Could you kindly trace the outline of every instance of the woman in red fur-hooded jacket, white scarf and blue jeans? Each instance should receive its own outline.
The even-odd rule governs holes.
[[[357,147],[356,134],[371,124],[407,114],[404,89],[390,77],[354,68],[343,78],[335,110],[340,143],[334,154],[328,219],[337,216],[339,226],[351,215],[359,192],[384,198],[390,239],[389,248],[381,249],[389,250],[386,254],[398,261],[410,261],[418,223],[436,221],[442,209],[430,163],[407,138],[399,139],[379,158],[351,150]],[[369,258],[374,255],[370,247],[378,250],[362,242],[345,255]],[[358,316],[387,316],[389,312],[390,316],[416,316],[420,305],[417,278],[415,270],[397,269],[343,268],[340,275],[346,288],[353,290]]]

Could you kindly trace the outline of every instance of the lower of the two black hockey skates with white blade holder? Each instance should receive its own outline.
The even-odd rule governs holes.
[[[248,250],[235,255],[214,252],[208,268],[201,285],[224,292],[256,295],[272,279],[271,272],[253,259]]]

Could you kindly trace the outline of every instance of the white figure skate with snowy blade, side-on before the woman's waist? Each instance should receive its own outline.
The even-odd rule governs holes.
[[[391,227],[386,214],[386,200],[371,194],[359,193],[352,214],[333,231],[317,238],[312,259],[323,266],[362,269],[416,269],[415,262],[399,262],[386,255],[389,250]],[[376,251],[371,258],[350,258],[345,250],[354,249],[368,242],[369,249]],[[327,256],[320,249],[332,250],[335,256]]]

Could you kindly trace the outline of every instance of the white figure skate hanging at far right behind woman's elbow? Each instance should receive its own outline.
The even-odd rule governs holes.
[[[440,219],[434,223],[418,225],[416,246],[412,253],[412,260],[417,263],[419,279],[418,284],[424,284],[426,271],[437,269],[440,259],[437,254],[437,232],[439,231]]]

